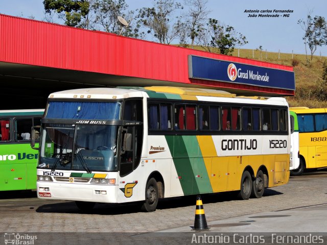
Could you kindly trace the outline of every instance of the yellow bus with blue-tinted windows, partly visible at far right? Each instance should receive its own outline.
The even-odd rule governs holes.
[[[291,107],[296,113],[299,131],[299,167],[292,175],[301,175],[305,169],[327,167],[327,109]]]

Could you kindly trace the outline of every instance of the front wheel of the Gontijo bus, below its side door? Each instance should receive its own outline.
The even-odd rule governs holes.
[[[158,204],[158,185],[154,178],[151,178],[145,189],[145,201],[141,207],[144,212],[153,212]]]

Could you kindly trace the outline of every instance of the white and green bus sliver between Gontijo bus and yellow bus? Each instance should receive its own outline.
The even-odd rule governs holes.
[[[291,120],[291,153],[290,153],[290,175],[293,175],[292,170],[297,171],[300,165],[299,154],[299,133],[296,113],[290,111]]]

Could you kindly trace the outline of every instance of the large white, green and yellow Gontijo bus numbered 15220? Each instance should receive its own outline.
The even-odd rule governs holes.
[[[211,89],[55,92],[42,118],[37,194],[81,209],[141,201],[144,211],[199,193],[261,198],[289,181],[288,118],[285,99]]]

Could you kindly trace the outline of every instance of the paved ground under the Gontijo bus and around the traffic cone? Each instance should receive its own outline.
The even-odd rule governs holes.
[[[137,205],[97,204],[89,213],[81,212],[74,202],[39,200],[35,192],[6,192],[0,197],[0,231],[2,232],[137,232],[147,233],[166,231],[172,228],[194,224],[196,197],[161,200],[152,213],[139,212]],[[276,215],[271,211],[320,205],[320,216],[327,219],[327,172],[307,173],[291,177],[287,185],[265,190],[261,199],[247,201],[233,200],[229,194],[202,195],[205,216],[208,224],[239,223],[250,220],[251,216]],[[299,216],[303,210],[290,210],[287,214]],[[305,209],[304,209],[305,210]],[[284,212],[284,211],[283,211]],[[291,214],[290,214],[291,213]],[[249,216],[251,215],[251,216]],[[285,216],[284,218],[289,217]],[[279,217],[280,220],[282,220]],[[228,220],[227,220],[228,219]],[[269,218],[267,218],[268,220]],[[252,232],[264,229],[264,219],[247,226],[235,226],[231,230],[225,226],[217,231],[249,229]],[[307,222],[303,216],[300,222]],[[255,223],[255,224],[254,224]],[[308,222],[307,222],[308,223]],[[256,225],[261,224],[261,225]],[[319,231],[327,231],[326,223]],[[323,226],[322,226],[323,225]],[[292,231],[292,224],[284,231]],[[214,228],[212,228],[214,229]]]

